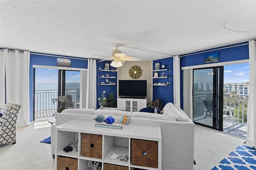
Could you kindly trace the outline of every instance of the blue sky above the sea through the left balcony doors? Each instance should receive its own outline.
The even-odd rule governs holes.
[[[36,83],[58,83],[58,70],[36,68]],[[80,83],[80,71],[66,71],[66,83]]]

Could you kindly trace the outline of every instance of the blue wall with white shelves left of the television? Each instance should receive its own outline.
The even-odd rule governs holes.
[[[112,67],[110,66],[110,63],[112,61],[103,61],[103,62],[97,62],[97,99],[102,97],[102,92],[106,91],[105,93],[105,97],[108,97],[108,94],[113,93],[115,98],[117,97],[117,86],[118,86],[118,82],[117,82],[117,71],[116,72],[112,72],[112,71],[100,71],[99,68],[101,68],[101,70],[104,70],[105,68],[105,63],[109,64],[109,70],[116,70],[116,67]],[[106,77],[109,74],[109,77],[114,76],[116,78],[109,78]],[[100,78],[101,76],[104,76],[104,78]],[[108,82],[106,82],[105,80],[108,79]],[[104,84],[109,84],[110,82],[115,83],[116,85],[100,85],[101,82],[104,82]],[[98,103],[98,100],[97,100]],[[97,104],[97,108],[100,108],[100,105]]]

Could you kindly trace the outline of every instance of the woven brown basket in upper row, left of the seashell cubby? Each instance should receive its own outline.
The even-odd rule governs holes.
[[[81,156],[102,159],[102,135],[82,133]]]

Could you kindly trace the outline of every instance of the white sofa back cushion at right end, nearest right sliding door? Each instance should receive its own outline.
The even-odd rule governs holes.
[[[176,121],[187,121],[186,116],[184,116],[172,103],[167,103],[163,110],[162,113],[164,115],[172,115],[176,118]]]

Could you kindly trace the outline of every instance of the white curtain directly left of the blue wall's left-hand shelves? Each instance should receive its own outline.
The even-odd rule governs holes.
[[[87,76],[87,91],[86,91],[86,108],[96,109],[97,96],[96,96],[96,73],[97,61],[94,59],[88,60],[88,76]]]

